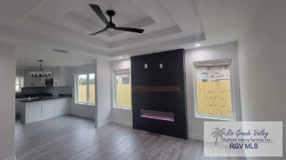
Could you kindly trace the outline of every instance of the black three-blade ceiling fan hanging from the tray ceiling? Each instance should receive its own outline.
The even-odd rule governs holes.
[[[106,11],[106,14],[108,14],[108,16],[109,16],[109,22],[108,22],[106,17],[104,17],[103,12],[99,8],[98,5],[90,4],[89,6],[90,6],[90,8],[93,8],[93,10],[98,15],[98,17],[100,19],[102,19],[102,21],[106,24],[106,28],[104,28],[103,30],[99,30],[98,32],[94,32],[94,33],[91,33],[89,35],[94,36],[95,34],[99,34],[99,33],[105,32],[106,30],[109,30],[109,31],[122,30],[122,31],[136,32],[136,33],[143,33],[144,32],[144,30],[137,29],[137,28],[116,27],[115,23],[112,22],[112,17],[115,15],[115,11],[114,10],[107,10]]]

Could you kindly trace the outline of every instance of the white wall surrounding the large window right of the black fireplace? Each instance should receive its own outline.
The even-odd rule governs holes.
[[[215,59],[232,59],[232,77],[233,77],[233,90],[236,107],[236,120],[241,120],[240,111],[240,86],[238,74],[238,43],[225,43],[218,46],[209,46],[205,48],[198,48],[193,50],[186,50],[185,63],[186,63],[186,88],[187,88],[187,106],[188,106],[188,126],[189,136],[202,138],[204,134],[204,121],[215,121],[211,119],[202,119],[195,117],[195,101],[193,89],[193,76],[194,76],[194,61],[207,61]]]

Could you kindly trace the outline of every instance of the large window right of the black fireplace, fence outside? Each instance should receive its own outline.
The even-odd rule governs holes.
[[[194,63],[196,117],[233,120],[229,62]]]

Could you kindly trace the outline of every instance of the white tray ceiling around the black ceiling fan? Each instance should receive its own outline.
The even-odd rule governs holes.
[[[144,34],[104,32],[88,6],[115,10],[117,26]],[[17,66],[79,66],[176,48],[236,41],[251,21],[258,0],[1,0],[0,41],[17,46]],[[106,15],[107,17],[107,15]],[[53,49],[68,50],[57,54]]]

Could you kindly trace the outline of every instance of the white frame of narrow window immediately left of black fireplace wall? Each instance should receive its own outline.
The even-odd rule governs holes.
[[[128,73],[129,74],[129,77],[130,77],[130,85],[131,85],[131,70],[130,69],[122,69],[122,70],[115,70],[113,71],[113,83],[112,83],[112,87],[113,87],[113,108],[116,108],[116,109],[122,109],[122,110],[132,110],[132,88],[130,89],[130,92],[131,92],[131,106],[130,108],[129,107],[126,107],[126,106],[117,106],[116,105],[116,100],[117,100],[117,97],[116,97],[116,76],[117,74],[120,74],[120,73]]]

